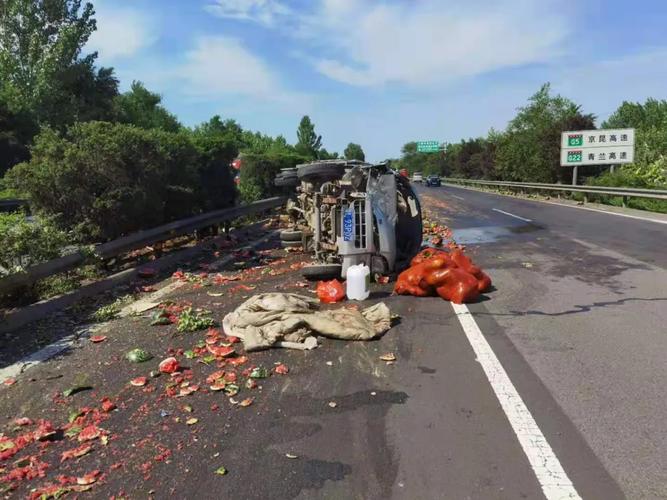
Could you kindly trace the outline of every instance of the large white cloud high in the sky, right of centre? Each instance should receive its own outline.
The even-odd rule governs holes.
[[[454,8],[436,0],[409,6],[329,0],[325,9],[332,3],[344,4],[346,14],[328,17],[316,31],[340,55],[320,58],[315,67],[351,85],[430,86],[545,62],[567,33],[564,19],[543,1],[473,0]],[[349,19],[357,29],[343,29]]]

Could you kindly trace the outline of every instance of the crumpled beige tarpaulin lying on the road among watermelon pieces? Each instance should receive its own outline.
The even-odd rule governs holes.
[[[361,311],[320,310],[317,300],[295,293],[263,293],[251,297],[225,316],[227,335],[243,339],[247,351],[266,349],[277,343],[304,342],[311,335],[342,340],[370,340],[391,326],[384,304]]]

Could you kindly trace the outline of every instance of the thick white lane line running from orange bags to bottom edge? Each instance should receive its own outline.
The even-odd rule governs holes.
[[[580,499],[551,446],[464,304],[453,304],[468,342],[528,458],[547,500]]]

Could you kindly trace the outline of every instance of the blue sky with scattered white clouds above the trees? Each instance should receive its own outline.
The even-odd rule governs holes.
[[[371,160],[502,129],[542,83],[604,119],[667,98],[665,0],[99,0],[89,49],[186,125],[219,114]]]

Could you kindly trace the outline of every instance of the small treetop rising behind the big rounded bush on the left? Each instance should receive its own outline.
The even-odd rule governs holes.
[[[159,94],[146,89],[141,82],[132,82],[130,90],[115,99],[117,120],[145,129],[178,132],[181,124],[161,103]]]

